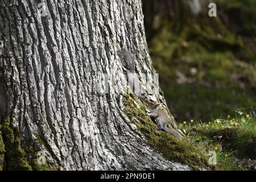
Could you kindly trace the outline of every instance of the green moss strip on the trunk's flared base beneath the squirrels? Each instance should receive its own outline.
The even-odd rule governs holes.
[[[130,121],[137,126],[141,134],[147,137],[148,143],[162,153],[165,158],[188,164],[194,169],[209,167],[207,156],[188,139],[177,139],[164,131],[158,130],[156,124],[145,113],[146,104],[137,100],[134,94],[125,94],[123,103],[125,114],[127,114]],[[139,108],[136,105],[139,105]]]

